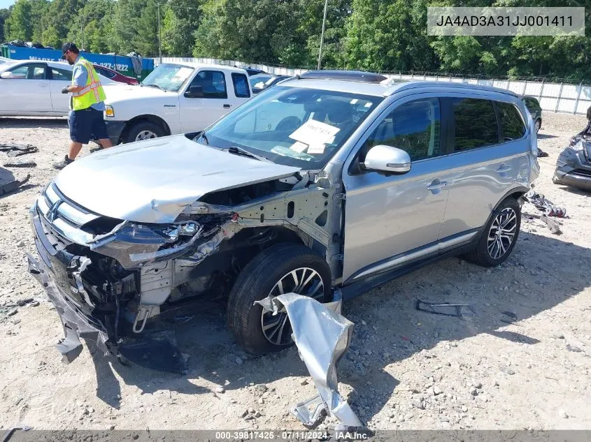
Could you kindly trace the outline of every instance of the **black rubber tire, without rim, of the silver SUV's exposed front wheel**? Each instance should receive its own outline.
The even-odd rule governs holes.
[[[263,309],[254,302],[267,297],[278,281],[300,267],[315,270],[322,279],[324,290],[323,294],[320,294],[322,299],[318,300],[320,302],[332,300],[329,266],[322,256],[300,244],[283,243],[271,246],[252,258],[238,275],[228,299],[227,321],[236,341],[245,351],[263,355],[280,351],[293,344],[289,339],[289,342],[277,345],[265,337],[262,327]],[[288,289],[285,288],[285,293],[289,291]],[[321,290],[319,293],[322,293]],[[289,321],[285,323],[283,330],[289,333],[287,334],[289,337],[291,334]]]

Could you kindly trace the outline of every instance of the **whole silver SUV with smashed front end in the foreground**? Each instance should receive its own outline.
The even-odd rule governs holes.
[[[68,360],[79,337],[125,356],[165,312],[212,299],[245,350],[276,351],[290,324],[257,300],[346,300],[447,256],[506,260],[536,150],[511,92],[309,72],[206,131],[68,165],[31,209],[29,268]]]

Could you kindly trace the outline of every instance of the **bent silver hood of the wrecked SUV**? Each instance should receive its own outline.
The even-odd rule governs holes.
[[[206,193],[289,177],[299,168],[266,163],[173,135],[104,149],[55,178],[64,196],[91,212],[170,223]]]

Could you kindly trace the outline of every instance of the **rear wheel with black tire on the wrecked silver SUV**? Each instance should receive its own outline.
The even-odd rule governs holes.
[[[511,213],[513,213],[515,215],[515,220],[514,223],[512,224],[510,221],[508,221],[508,216],[511,215]],[[495,240],[494,237],[497,236],[497,232],[499,231],[499,229],[497,228],[497,226],[499,225],[499,220],[501,220],[501,225],[502,225],[502,219],[503,217],[507,217],[507,226],[506,229],[507,230],[513,230],[514,234],[513,237],[511,237],[511,242],[507,242],[506,238],[508,235],[504,235],[503,237],[499,237],[499,239]],[[511,226],[514,226],[514,228],[511,228]],[[506,200],[504,200],[503,202],[501,202],[501,204],[499,205],[499,207],[497,207],[497,209],[494,209],[494,212],[492,213],[492,216],[490,217],[490,220],[488,221],[487,225],[485,226],[482,235],[480,236],[480,240],[478,241],[478,245],[476,246],[476,249],[474,249],[473,251],[471,251],[470,253],[467,253],[466,255],[463,256],[463,258],[467,261],[469,261],[470,263],[474,263],[477,265],[481,265],[483,267],[494,267],[496,265],[499,265],[501,263],[504,263],[504,261],[511,255],[511,251],[513,251],[513,247],[515,247],[515,243],[517,242],[517,239],[519,237],[519,230],[521,227],[521,208],[519,203],[515,200],[515,198],[507,198]],[[500,233],[499,233],[500,235]],[[493,239],[491,240],[491,237],[493,237]],[[499,246],[497,244],[498,241],[501,241],[502,246]],[[495,242],[495,244],[492,244],[490,241]],[[492,247],[492,250],[491,250]],[[497,256],[497,251],[502,251],[502,247],[505,248],[505,251],[501,253],[500,256]]]

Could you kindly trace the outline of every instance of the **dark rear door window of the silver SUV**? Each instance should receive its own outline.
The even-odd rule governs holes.
[[[476,98],[454,98],[455,152],[499,143],[497,115],[492,102]]]

